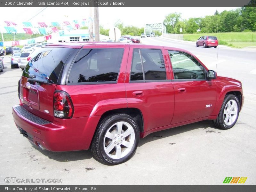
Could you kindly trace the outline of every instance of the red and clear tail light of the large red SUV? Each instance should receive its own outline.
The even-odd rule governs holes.
[[[58,118],[71,118],[74,113],[74,107],[70,96],[64,91],[55,91],[53,96],[54,116]]]

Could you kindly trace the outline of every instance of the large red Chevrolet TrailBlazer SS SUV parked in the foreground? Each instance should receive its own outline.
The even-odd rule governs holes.
[[[182,49],[122,43],[48,44],[36,49],[19,82],[13,118],[20,133],[50,151],[91,149],[120,164],[140,138],[211,119],[233,127],[240,81],[218,76]]]

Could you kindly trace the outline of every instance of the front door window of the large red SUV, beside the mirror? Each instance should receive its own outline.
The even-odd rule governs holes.
[[[168,51],[174,79],[205,79],[204,67],[185,52]]]

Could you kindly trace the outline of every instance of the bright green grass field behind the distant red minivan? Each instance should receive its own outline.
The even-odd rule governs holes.
[[[196,41],[200,36],[217,36],[219,44],[244,48],[256,46],[256,32],[194,33],[184,34],[185,41]]]

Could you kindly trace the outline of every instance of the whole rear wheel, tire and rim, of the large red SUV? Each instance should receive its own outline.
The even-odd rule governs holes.
[[[92,141],[93,156],[103,164],[116,165],[129,160],[140,139],[134,119],[123,113],[107,116],[99,124]]]

